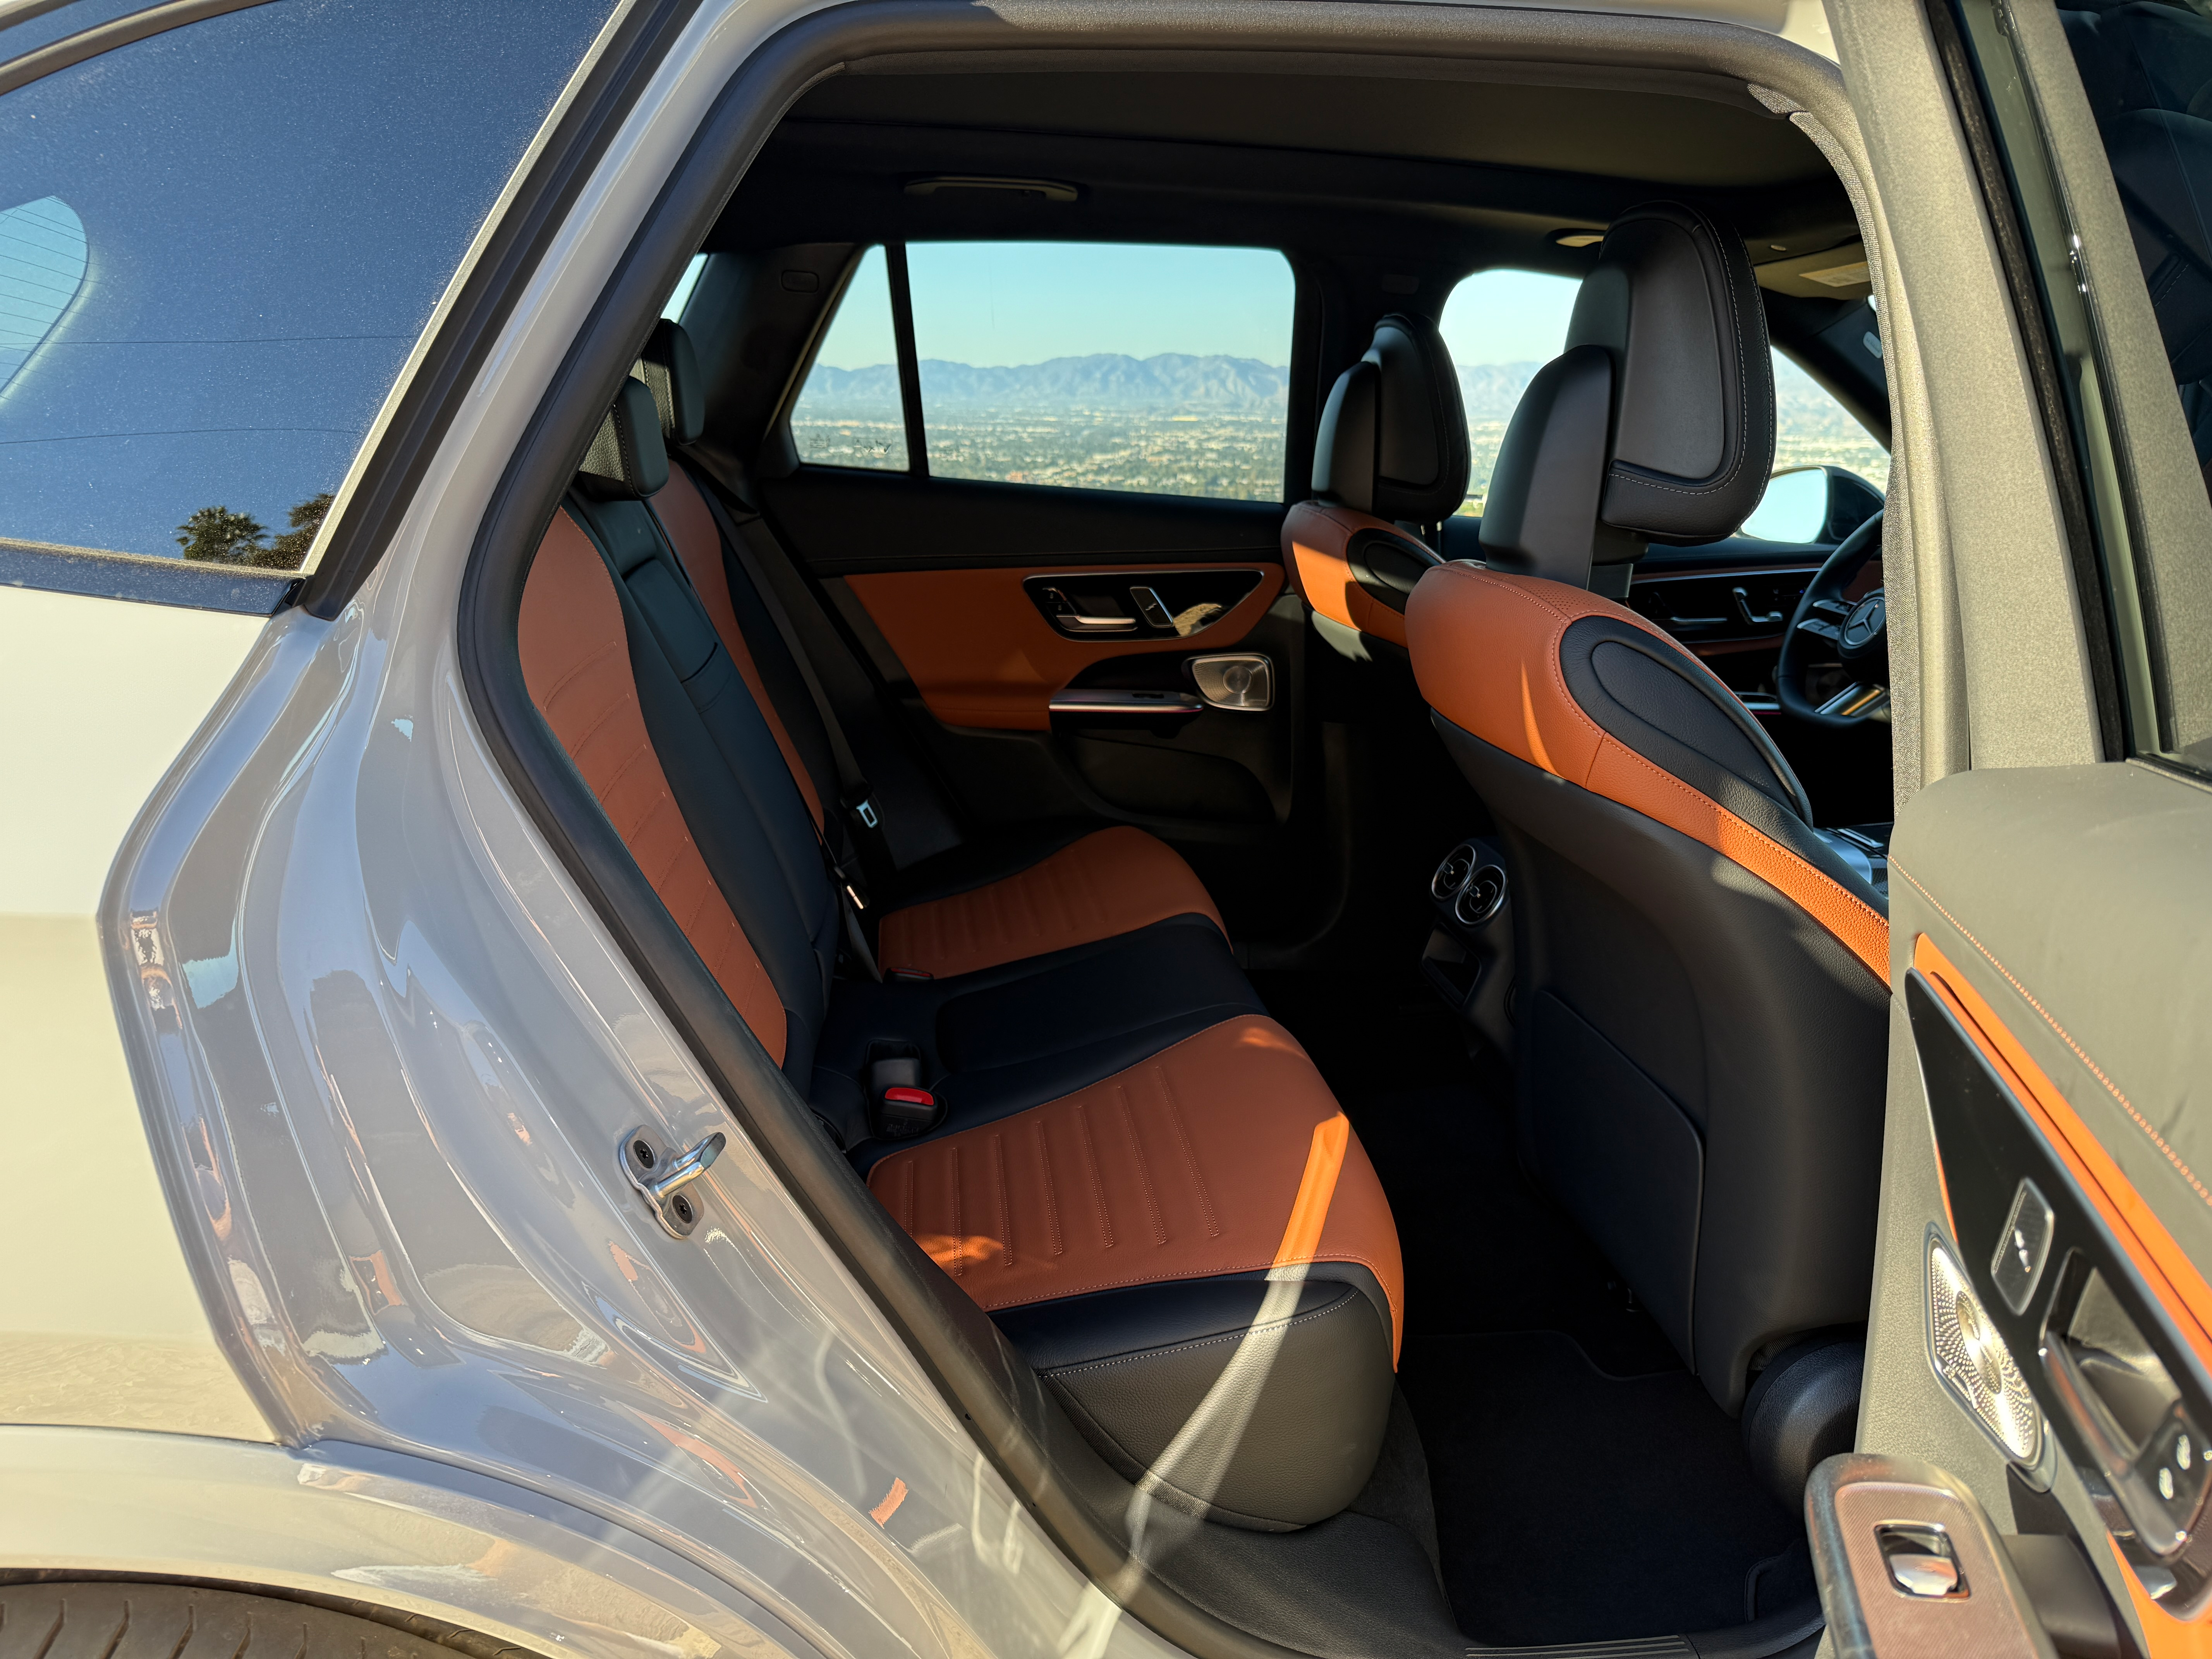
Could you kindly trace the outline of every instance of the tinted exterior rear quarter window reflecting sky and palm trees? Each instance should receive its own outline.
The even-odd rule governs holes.
[[[0,97],[0,538],[296,566],[608,9],[292,0]]]

